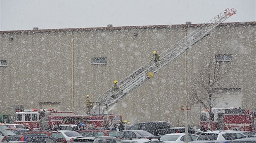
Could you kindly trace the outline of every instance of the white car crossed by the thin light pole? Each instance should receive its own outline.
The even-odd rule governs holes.
[[[188,134],[188,142],[196,140],[196,135]],[[186,136],[185,133],[165,134],[161,136],[160,141],[164,141],[164,143],[184,143],[186,141]]]

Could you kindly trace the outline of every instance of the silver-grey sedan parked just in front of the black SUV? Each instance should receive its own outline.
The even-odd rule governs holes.
[[[144,130],[123,130],[119,131],[123,138],[154,138],[153,134]]]

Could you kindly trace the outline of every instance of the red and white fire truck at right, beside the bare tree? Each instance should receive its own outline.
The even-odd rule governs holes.
[[[209,126],[209,112],[201,112],[200,125],[211,130],[256,131],[254,112],[242,108],[213,108]]]

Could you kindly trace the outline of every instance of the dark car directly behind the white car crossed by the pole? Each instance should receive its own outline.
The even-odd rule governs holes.
[[[196,130],[188,128],[188,134],[196,134]],[[159,135],[173,134],[173,133],[185,133],[185,127],[173,127],[170,129],[159,129]]]

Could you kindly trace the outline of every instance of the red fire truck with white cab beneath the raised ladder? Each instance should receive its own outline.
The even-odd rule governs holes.
[[[23,124],[36,130],[49,130],[57,124],[77,125],[80,122],[100,128],[106,124],[119,124],[122,121],[122,115],[77,115],[75,112],[56,111],[55,109],[25,109],[15,114],[15,124]]]

